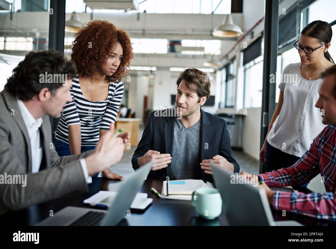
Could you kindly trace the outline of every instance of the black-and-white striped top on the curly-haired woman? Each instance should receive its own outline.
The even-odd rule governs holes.
[[[110,82],[109,94],[105,100],[89,101],[84,97],[76,75],[72,80],[70,92],[73,100],[67,103],[61,113],[55,137],[69,143],[68,126],[80,124],[82,146],[96,145],[99,141],[99,131],[108,130],[116,120],[124,85],[121,81]]]

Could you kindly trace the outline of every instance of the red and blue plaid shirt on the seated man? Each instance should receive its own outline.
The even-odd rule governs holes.
[[[328,125],[309,150],[291,167],[259,174],[269,186],[302,185],[321,174],[327,193],[303,194],[276,191],[273,207],[319,219],[336,221],[336,126]]]

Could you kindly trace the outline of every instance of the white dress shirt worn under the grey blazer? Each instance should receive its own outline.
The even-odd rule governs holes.
[[[43,142],[41,141],[41,132],[39,129],[43,123],[43,120],[42,118],[35,119],[22,100],[16,99],[16,101],[29,134],[30,145],[32,149],[32,173],[36,173],[40,169],[43,157]],[[89,174],[87,172],[85,159],[82,158],[80,163],[83,169],[86,183],[92,182],[91,177],[89,178]]]

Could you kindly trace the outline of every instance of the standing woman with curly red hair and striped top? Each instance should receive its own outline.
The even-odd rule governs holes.
[[[121,78],[132,59],[129,36],[112,23],[94,20],[75,34],[71,60],[78,74],[70,88],[73,101],[63,109],[56,129],[59,156],[93,150],[101,135],[109,129],[113,132],[124,92]],[[122,137],[128,139],[129,134]],[[122,179],[110,170],[102,176]]]

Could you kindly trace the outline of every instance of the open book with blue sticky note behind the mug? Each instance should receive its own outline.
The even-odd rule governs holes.
[[[200,188],[213,188],[213,185],[194,179],[163,181],[161,198],[191,200],[193,192]]]

